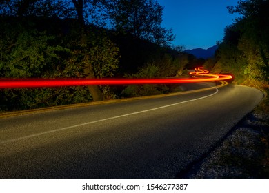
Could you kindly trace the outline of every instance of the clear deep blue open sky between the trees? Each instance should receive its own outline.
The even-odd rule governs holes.
[[[238,0],[157,0],[163,10],[162,26],[172,28],[174,45],[186,49],[209,48],[223,39],[224,28],[238,17],[227,6]]]

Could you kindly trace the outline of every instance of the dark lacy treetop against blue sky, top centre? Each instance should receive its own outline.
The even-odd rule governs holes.
[[[172,29],[161,27],[163,7],[155,0],[114,0],[107,3],[112,26],[118,32],[135,34],[140,39],[169,45]]]

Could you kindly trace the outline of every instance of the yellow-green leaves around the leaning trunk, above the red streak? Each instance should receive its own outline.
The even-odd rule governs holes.
[[[87,77],[84,69],[90,64],[94,77],[113,77],[118,68],[119,48],[108,38],[106,32],[90,28],[86,32],[84,45],[79,42],[80,38],[77,36],[72,40],[70,45],[72,57],[67,61],[66,72],[76,74],[76,77]]]

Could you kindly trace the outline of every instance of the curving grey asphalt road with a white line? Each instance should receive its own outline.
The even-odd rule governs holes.
[[[262,97],[259,90],[226,85],[3,118],[0,178],[174,179]]]

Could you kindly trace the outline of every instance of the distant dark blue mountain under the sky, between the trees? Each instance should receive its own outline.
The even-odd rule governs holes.
[[[211,57],[214,57],[214,54],[217,50],[219,46],[218,45],[214,45],[208,49],[202,49],[202,48],[195,48],[192,50],[184,50],[184,52],[188,53],[188,54],[192,54],[195,57],[197,57],[198,59],[202,58],[202,59],[208,59]]]

